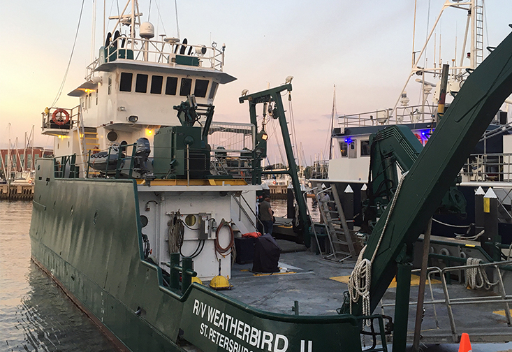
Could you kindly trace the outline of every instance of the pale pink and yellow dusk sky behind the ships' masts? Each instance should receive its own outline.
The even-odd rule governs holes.
[[[126,4],[105,2],[107,17]],[[443,3],[418,1],[415,50],[423,45],[427,24],[432,27]],[[0,147],[16,137],[22,147],[32,125],[35,145],[52,145],[52,137],[41,135],[41,112],[54,100],[64,77],[81,5],[80,0],[0,0]],[[93,1],[85,0],[59,107],[78,105],[78,98],[66,94],[82,84],[91,62],[92,8]],[[393,108],[411,69],[414,0],[177,0],[177,9],[182,39],[226,44],[224,71],[237,80],[219,88],[215,121],[249,122],[247,104],[237,100],[240,92],[275,87],[293,75],[296,138],[307,163],[326,149],[334,85],[338,115]],[[451,62],[455,47],[460,51],[462,45],[466,15],[448,10],[436,34],[443,38],[443,61]],[[142,22],[149,13],[156,34],[177,36],[174,1],[152,0],[149,12],[149,1],[141,0],[140,12]],[[97,3],[96,18],[95,54],[103,41],[103,1]],[[112,29],[115,21],[107,23]],[[512,1],[485,0],[484,45],[498,45],[511,31],[509,23]],[[428,52],[433,54],[432,47]],[[275,151],[270,155],[272,162],[279,162]]]

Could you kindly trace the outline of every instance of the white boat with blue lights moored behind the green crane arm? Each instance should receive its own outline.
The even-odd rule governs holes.
[[[332,159],[328,161],[328,181],[338,184],[339,192],[347,185],[353,190],[354,223],[361,221],[361,189],[366,189],[370,169],[370,135],[388,126],[404,125],[416,135],[425,146],[434,131],[439,116],[441,94],[441,71],[448,60],[441,60],[441,34],[437,34],[441,17],[447,10],[458,11],[464,18],[465,27],[460,49],[448,68],[446,84],[446,109],[449,109],[453,97],[458,93],[466,78],[481,64],[486,54],[493,50],[484,44],[484,1],[483,0],[446,0],[427,41],[418,51],[413,50],[412,67],[407,81],[391,108],[367,110],[353,115],[337,116],[331,134]],[[460,18],[460,17],[459,17]],[[460,23],[460,22],[459,22]],[[506,25],[506,24],[504,24]],[[416,26],[416,18],[415,18]],[[451,34],[453,36],[453,34]],[[457,36],[455,36],[457,38]],[[437,43],[436,43],[437,41]],[[455,44],[457,45],[457,44]],[[434,59],[425,59],[427,52],[434,51]],[[439,54],[439,57],[437,55]],[[411,92],[417,94],[410,94]],[[409,94],[409,95],[408,95]],[[419,101],[411,105],[411,101]],[[492,187],[499,200],[500,233],[512,240],[512,118],[509,104],[502,105],[487,131],[476,145],[464,168],[460,171],[458,188],[467,200],[467,218],[437,216],[434,218],[432,233],[455,236],[460,233],[473,234],[475,223],[474,191],[482,186]],[[400,171],[400,168],[399,168]],[[399,172],[400,175],[400,172]],[[317,181],[322,177],[316,177]],[[325,181],[322,179],[322,181]],[[363,194],[364,198],[364,194]],[[510,237],[510,238],[509,238]]]

